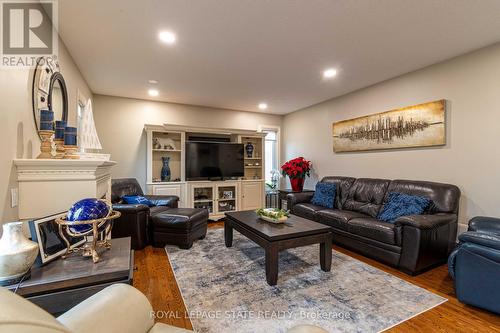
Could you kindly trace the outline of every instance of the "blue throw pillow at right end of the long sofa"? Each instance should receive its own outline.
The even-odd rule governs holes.
[[[430,203],[431,200],[425,197],[391,192],[377,219],[394,223],[401,216],[422,214]]]

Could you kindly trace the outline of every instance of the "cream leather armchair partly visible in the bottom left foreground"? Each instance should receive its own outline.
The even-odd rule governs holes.
[[[114,284],[78,304],[57,319],[35,304],[0,288],[0,333],[187,333],[154,323],[146,296],[127,284]]]

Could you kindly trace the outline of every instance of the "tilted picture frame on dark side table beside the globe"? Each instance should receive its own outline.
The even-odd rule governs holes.
[[[66,243],[59,235],[59,226],[56,218],[64,213],[51,215],[42,219],[29,221],[31,239],[38,243],[40,248],[40,259],[42,264],[54,260],[66,253]],[[85,243],[84,237],[70,237],[71,248],[81,246]]]

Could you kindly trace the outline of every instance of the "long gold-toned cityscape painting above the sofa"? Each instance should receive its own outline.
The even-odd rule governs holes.
[[[332,125],[333,151],[444,145],[445,110],[443,99],[335,122]]]

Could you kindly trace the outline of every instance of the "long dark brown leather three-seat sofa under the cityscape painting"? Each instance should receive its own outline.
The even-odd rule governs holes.
[[[455,247],[460,190],[455,185],[413,180],[325,177],[337,186],[335,209],[310,203],[314,193],[293,193],[295,215],[332,227],[334,243],[416,275],[446,262]],[[395,223],[377,220],[389,193],[424,196],[432,203],[422,215]]]

